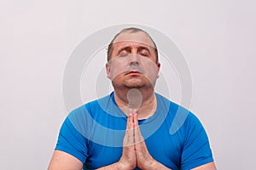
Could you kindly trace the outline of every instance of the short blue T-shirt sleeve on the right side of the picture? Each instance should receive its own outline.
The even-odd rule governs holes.
[[[192,113],[187,117],[185,139],[181,157],[181,169],[199,167],[213,161],[207,133],[198,118]]]

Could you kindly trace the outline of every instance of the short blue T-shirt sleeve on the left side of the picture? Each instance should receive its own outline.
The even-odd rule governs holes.
[[[75,114],[75,111],[71,114]],[[86,143],[84,136],[73,126],[70,116],[67,116],[62,123],[55,150],[64,151],[84,163],[88,156]]]

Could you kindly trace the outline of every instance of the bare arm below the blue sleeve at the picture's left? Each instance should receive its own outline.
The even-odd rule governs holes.
[[[81,170],[83,162],[61,150],[55,150],[48,170]]]

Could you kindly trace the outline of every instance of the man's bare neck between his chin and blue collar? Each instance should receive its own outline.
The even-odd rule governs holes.
[[[154,115],[154,111],[157,107],[157,101],[154,94],[154,89],[143,89],[143,88],[136,88],[137,91],[140,92],[140,97],[142,97],[141,105],[137,109],[137,117],[139,120],[147,119],[149,116]],[[125,112],[125,115],[129,115],[129,110],[131,108],[131,99],[127,99],[127,94],[131,90],[130,88],[123,89],[123,90],[114,90],[114,99],[119,106],[119,108]],[[136,96],[135,96],[136,97]],[[137,99],[134,99],[137,100]]]

